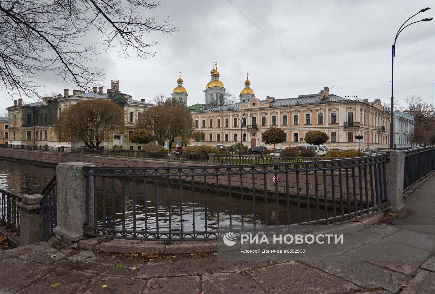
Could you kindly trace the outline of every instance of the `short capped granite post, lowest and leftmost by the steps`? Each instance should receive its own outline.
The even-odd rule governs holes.
[[[43,241],[43,224],[40,194],[23,195],[17,203],[20,210],[20,246]]]

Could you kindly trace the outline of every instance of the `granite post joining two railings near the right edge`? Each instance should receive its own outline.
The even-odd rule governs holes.
[[[399,150],[381,150],[389,154],[389,162],[385,164],[387,199],[390,201],[389,212],[400,214],[405,209],[403,203],[403,174],[405,170],[405,153]]]

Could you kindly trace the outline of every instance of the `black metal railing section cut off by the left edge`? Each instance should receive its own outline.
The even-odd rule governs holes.
[[[17,202],[21,202],[23,198],[20,195],[0,189],[0,224],[6,226],[11,232],[20,231],[20,210],[17,207]]]

